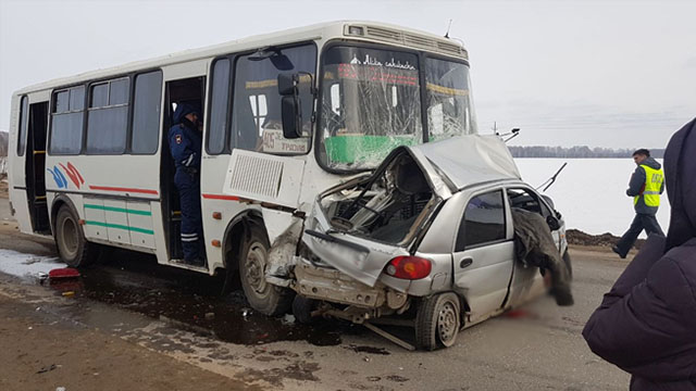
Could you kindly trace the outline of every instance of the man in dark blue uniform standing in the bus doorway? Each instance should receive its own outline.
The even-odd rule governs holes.
[[[182,248],[184,262],[203,266],[200,240],[203,227],[200,215],[200,151],[201,118],[197,108],[179,103],[174,111],[169,140],[172,157],[176,164],[174,182],[178,189],[182,207]]]

